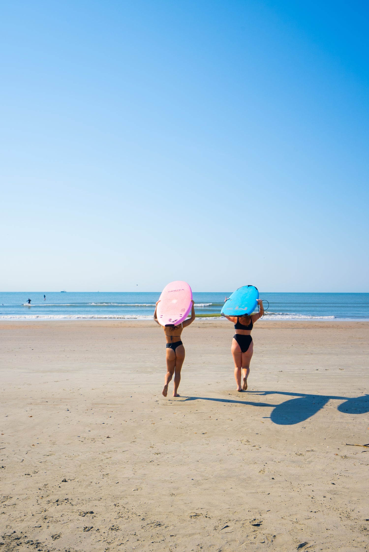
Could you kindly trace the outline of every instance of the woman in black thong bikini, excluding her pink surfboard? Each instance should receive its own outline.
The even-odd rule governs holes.
[[[156,317],[156,308],[158,303],[159,301],[156,302],[154,320],[157,324],[159,324],[159,326],[161,326],[160,322],[157,320],[157,317]],[[180,381],[181,381],[181,368],[184,360],[184,347],[181,341],[181,333],[183,328],[186,328],[186,326],[189,326],[190,324],[192,324],[192,322],[195,319],[195,310],[193,305],[194,305],[194,301],[192,300],[190,319],[185,320],[179,326],[163,326],[166,341],[167,341],[167,346],[166,346],[167,373],[165,374],[164,389],[162,390],[162,394],[165,397],[168,394],[168,384],[171,381],[173,374],[174,374],[173,397],[180,396],[178,395],[177,390],[178,390],[178,385],[180,385]]]

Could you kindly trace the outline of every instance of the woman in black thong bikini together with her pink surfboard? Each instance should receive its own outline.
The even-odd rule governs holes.
[[[179,397],[177,390],[181,381],[181,369],[184,361],[184,347],[181,341],[183,328],[189,326],[195,319],[194,301],[192,291],[186,282],[171,282],[165,286],[159,301],[156,302],[154,320],[164,328],[166,338],[166,364],[164,389],[162,394],[166,397],[168,384],[174,374],[173,397]],[[191,318],[187,316],[191,310]]]

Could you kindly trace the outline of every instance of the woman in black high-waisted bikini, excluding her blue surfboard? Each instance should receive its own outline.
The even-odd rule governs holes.
[[[259,320],[264,314],[264,307],[262,300],[257,299],[259,305],[259,312],[251,316],[225,316],[227,320],[234,323],[236,330],[232,339],[231,352],[234,360],[234,378],[237,384],[238,391],[246,391],[247,378],[250,374],[250,362],[254,348],[252,345],[251,330],[256,320]],[[242,389],[241,389],[241,375],[242,375]]]

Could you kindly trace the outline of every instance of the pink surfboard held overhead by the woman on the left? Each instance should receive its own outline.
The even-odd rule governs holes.
[[[162,290],[156,308],[162,326],[178,326],[186,320],[192,307],[192,290],[186,282],[171,282]]]

